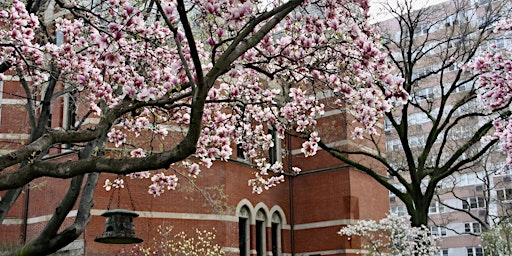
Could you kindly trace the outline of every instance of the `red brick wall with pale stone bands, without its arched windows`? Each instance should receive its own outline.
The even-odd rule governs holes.
[[[4,94],[3,97],[8,96]],[[55,102],[52,124],[61,125],[60,118],[64,114],[62,104],[63,101],[60,100]],[[2,107],[1,133],[28,132],[26,129],[28,120],[12,116],[25,116],[22,106]],[[350,139],[347,123],[350,123],[350,118],[342,113],[323,118],[319,127],[324,131],[327,141],[336,142]],[[150,142],[150,139],[145,136],[139,137],[138,140]],[[293,153],[300,149],[301,143],[301,140],[293,139],[290,145],[285,141],[283,147],[293,150],[289,151],[292,154],[291,165],[302,168],[303,173],[295,177],[287,177],[284,184],[264,191],[261,195],[253,194],[247,185],[247,180],[254,177],[255,172],[247,163],[217,162],[212,169],[203,170],[197,179],[193,179],[195,185],[192,185],[186,177],[178,175],[180,179],[178,189],[166,191],[157,198],[147,193],[148,180],[127,179],[131,198],[127,189],[121,191],[119,207],[132,209],[133,202],[135,210],[142,214],[135,219],[136,234],[145,240],[142,245],[146,247],[150,246],[155,238],[159,225],[172,225],[176,232],[181,230],[194,232],[196,228],[200,230],[215,228],[217,243],[236,249],[238,248],[237,206],[244,201],[248,202],[248,206],[254,211],[253,214],[263,207],[269,214],[267,221],[272,217],[270,210],[273,207],[282,209],[284,216],[281,217],[285,226],[281,234],[281,244],[282,251],[285,253],[290,253],[292,248],[295,253],[342,252],[345,249],[358,248],[356,241],[347,241],[339,237],[336,232],[354,219],[384,217],[388,211],[387,191],[369,176],[348,168],[342,161],[333,158],[325,151],[320,150],[317,156],[307,158]],[[287,160],[288,158],[284,159],[286,170],[289,167]],[[383,172],[382,169],[378,169],[377,164],[375,166],[379,172]],[[174,173],[173,170],[165,172]],[[118,207],[117,193],[112,194],[102,187],[106,178],[112,180],[115,177],[108,174],[100,177],[91,222],[81,237],[85,240],[88,255],[111,255],[123,250],[129,251],[133,247],[133,245],[104,245],[94,242],[94,238],[101,236],[104,229],[105,218],[99,214],[107,209],[109,202],[111,209]],[[68,186],[69,180],[51,178],[37,179],[32,183],[28,217],[34,223],[28,225],[29,239],[42,230],[45,224],[44,217],[54,212]],[[203,189],[203,193],[195,189],[195,186]],[[213,203],[205,199],[205,196],[211,198]],[[22,219],[23,200],[22,195],[9,212],[9,217],[14,217],[18,221]],[[72,221],[73,217],[70,217],[66,224]],[[22,226],[19,224],[2,224],[0,240],[19,242],[21,230]],[[254,237],[254,226],[251,230],[251,236]],[[268,251],[271,250],[270,233],[270,229],[267,228]],[[251,249],[254,249],[255,240],[252,241]]]

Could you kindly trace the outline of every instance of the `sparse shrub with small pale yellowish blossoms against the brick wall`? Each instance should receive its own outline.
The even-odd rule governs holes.
[[[172,226],[158,226],[152,244],[137,245],[129,255],[158,256],[218,256],[225,255],[222,247],[215,243],[213,231],[195,230],[195,235],[184,231],[173,233]]]

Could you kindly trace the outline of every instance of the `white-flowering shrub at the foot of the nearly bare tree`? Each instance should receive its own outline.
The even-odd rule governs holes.
[[[379,221],[360,220],[342,228],[339,235],[360,237],[366,255],[436,255],[438,237],[427,227],[412,227],[409,216],[389,214]]]

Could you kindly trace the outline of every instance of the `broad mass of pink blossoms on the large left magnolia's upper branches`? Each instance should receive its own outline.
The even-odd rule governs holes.
[[[402,81],[390,75],[377,32],[365,20],[365,0],[304,1],[268,31],[265,24],[272,18],[246,28],[281,1],[193,3],[187,10],[191,32],[196,33],[194,45],[185,36],[176,1],[160,1],[161,14],[169,22],[164,23],[150,16],[157,10],[148,14],[136,1],[109,0],[95,15],[57,19],[62,44],[39,46],[33,37],[37,19],[23,3],[13,0],[10,11],[0,12],[0,23],[9,28],[0,31],[4,38],[1,58],[40,81],[49,77],[45,70],[50,70],[50,64],[56,65],[59,79],[100,117],[120,103],[144,103],[121,116],[107,134],[116,147],[128,143],[128,133],[137,137],[145,131],[177,141],[181,135],[164,127],[170,125],[186,134],[198,83],[211,81],[206,85],[195,152],[200,162],[187,168],[195,177],[200,167],[229,159],[233,145],[238,144],[259,167],[255,179],[249,181],[255,192],[284,179],[282,165],[270,164],[265,154],[277,144],[269,129],[276,130],[278,139],[286,132],[309,136],[302,152],[306,156],[316,153],[320,136],[315,126],[325,107],[317,97],[320,93],[328,92],[332,105],[348,108],[354,115],[362,127],[355,134],[376,133],[379,118],[396,102],[407,100]],[[261,40],[260,33],[265,33]],[[237,37],[242,34],[246,36]],[[255,46],[244,49],[254,38],[258,38]],[[225,53],[230,54],[226,57]],[[225,70],[217,74],[223,66]],[[34,67],[37,72],[29,72]],[[386,84],[386,90],[376,84]],[[135,145],[130,156],[146,157],[146,146]],[[151,180],[149,192],[154,195],[164,188],[173,189],[177,182],[175,176],[163,173]]]

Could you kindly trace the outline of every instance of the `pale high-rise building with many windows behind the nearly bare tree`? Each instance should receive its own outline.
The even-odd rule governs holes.
[[[509,35],[490,32],[497,20],[510,17],[510,2],[446,1],[405,13],[410,16],[401,21],[386,20],[380,25],[387,34],[385,40],[400,42],[389,44],[393,45],[390,49],[394,51],[395,62],[413,63],[410,70],[400,72],[410,79],[412,88],[413,104],[407,111],[407,140],[412,154],[418,156],[425,152],[433,121],[444,122],[449,119],[449,114],[451,120],[457,120],[448,120],[448,128],[435,137],[426,161],[431,161],[432,168],[436,168],[447,162],[460,145],[492,118],[478,115],[486,109],[476,97],[472,74],[464,70],[463,64],[484,50],[510,48]],[[412,43],[408,41],[411,39]],[[411,49],[397,45],[410,45]],[[457,105],[465,97],[468,100]],[[438,116],[441,111],[442,116]],[[396,114],[395,119],[400,120],[400,114]],[[384,129],[388,157],[393,164],[401,166],[404,162],[403,144],[390,120],[386,120]],[[441,237],[439,255],[484,255],[480,233],[510,216],[512,172],[504,164],[504,155],[496,148],[478,160],[462,165],[437,186],[437,195],[429,208],[429,225],[431,232]],[[478,150],[476,146],[463,151],[457,161],[471,158]],[[405,190],[395,182],[396,187]],[[391,212],[407,213],[404,204],[393,193],[389,199]]]

